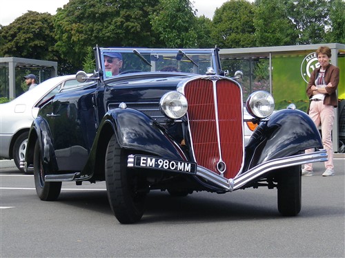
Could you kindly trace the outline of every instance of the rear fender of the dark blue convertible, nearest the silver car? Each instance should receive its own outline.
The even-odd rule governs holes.
[[[41,116],[34,119],[30,128],[28,145],[26,147],[26,169],[28,170],[28,167],[33,167],[34,145],[37,140],[41,149],[41,160],[44,171],[50,171],[50,173],[57,171],[57,159],[55,157],[50,129],[47,121],[41,118]]]

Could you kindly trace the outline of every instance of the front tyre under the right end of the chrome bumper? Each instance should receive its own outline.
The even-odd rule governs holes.
[[[290,166],[277,175],[278,211],[283,216],[295,216],[301,211],[301,166]]]

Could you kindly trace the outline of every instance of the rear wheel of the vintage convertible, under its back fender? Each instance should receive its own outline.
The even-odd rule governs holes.
[[[43,201],[55,201],[59,197],[61,191],[61,182],[46,182],[44,177],[46,171],[44,170],[41,148],[37,140],[34,145],[34,185],[39,199]]]

